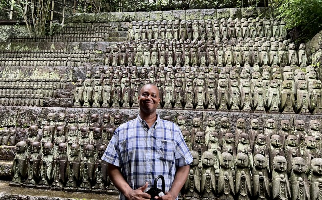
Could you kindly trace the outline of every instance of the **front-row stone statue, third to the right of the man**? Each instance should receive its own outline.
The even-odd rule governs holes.
[[[220,170],[218,178],[219,200],[234,200],[235,187],[233,180],[233,156],[230,153],[223,152],[220,160]]]

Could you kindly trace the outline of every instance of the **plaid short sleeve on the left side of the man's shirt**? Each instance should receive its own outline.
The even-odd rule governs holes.
[[[107,163],[121,167],[118,138],[119,132],[118,129],[116,129],[101,159]]]

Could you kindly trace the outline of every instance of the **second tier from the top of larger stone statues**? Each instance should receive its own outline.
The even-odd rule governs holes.
[[[270,42],[270,41],[268,41]],[[251,43],[251,42],[249,42]],[[262,42],[261,42],[262,43]],[[295,44],[289,44],[288,50],[283,43],[274,42],[270,50],[266,44],[262,44],[260,51],[255,43],[251,50],[250,47],[236,45],[210,46],[181,45],[180,43],[169,44],[166,47],[158,42],[153,44],[134,44],[129,48],[122,45],[106,48],[104,65],[105,66],[191,66],[191,67],[254,67],[254,66],[291,66],[306,67],[309,64],[309,56],[306,51],[306,45],[301,44],[299,51],[295,49]],[[133,46],[134,45],[134,46]],[[280,46],[279,46],[280,45]]]

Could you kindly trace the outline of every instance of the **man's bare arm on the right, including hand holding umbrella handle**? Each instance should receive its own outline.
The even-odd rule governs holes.
[[[188,174],[189,174],[190,165],[185,165],[178,167],[174,176],[174,180],[169,192],[166,192],[165,196],[155,197],[159,200],[175,200],[177,198],[181,188],[185,184]]]

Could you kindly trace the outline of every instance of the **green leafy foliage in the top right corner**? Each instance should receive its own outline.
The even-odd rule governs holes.
[[[287,29],[299,29],[297,42],[310,40],[322,29],[322,0],[272,0],[272,5]]]

